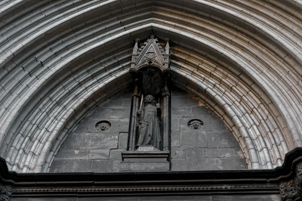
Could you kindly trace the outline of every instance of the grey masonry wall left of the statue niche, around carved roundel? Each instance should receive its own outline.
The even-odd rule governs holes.
[[[73,129],[58,151],[50,172],[116,172],[121,151],[127,148],[131,92],[108,98]],[[111,128],[97,131],[95,125],[108,121]]]

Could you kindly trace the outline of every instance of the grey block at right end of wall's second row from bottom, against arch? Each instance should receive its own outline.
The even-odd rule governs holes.
[[[244,158],[240,148],[211,148],[205,149],[205,157],[207,158]]]

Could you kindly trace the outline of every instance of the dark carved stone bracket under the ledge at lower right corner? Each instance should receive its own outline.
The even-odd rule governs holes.
[[[280,182],[279,186],[282,201],[302,200],[302,163],[296,166],[294,178]]]

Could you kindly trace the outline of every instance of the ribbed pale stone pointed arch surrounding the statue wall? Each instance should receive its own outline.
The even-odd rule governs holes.
[[[249,168],[301,146],[300,1],[0,2],[0,141],[10,170],[47,172],[68,133],[131,86],[135,38],[171,39],[173,83],[233,132]]]

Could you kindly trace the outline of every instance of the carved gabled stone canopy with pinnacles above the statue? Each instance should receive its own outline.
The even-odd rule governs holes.
[[[138,48],[139,39],[135,39],[135,45],[132,52],[130,72],[137,72],[144,67],[159,68],[162,72],[169,71],[170,46],[169,40],[165,49],[158,42],[154,35],[151,35],[143,45]]]

